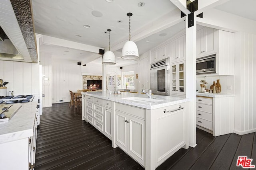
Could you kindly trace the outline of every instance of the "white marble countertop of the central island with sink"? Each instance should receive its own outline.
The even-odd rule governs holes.
[[[150,109],[150,110],[158,109],[166,106],[172,106],[175,104],[180,104],[180,103],[189,101],[189,99],[187,98],[152,95],[151,99],[160,100],[160,101],[146,102],[146,100],[148,99],[148,96],[146,94],[136,94],[136,93],[128,93],[128,92],[121,92],[121,94],[108,94],[107,92],[82,92],[82,94],[105,99],[105,100],[110,100],[113,102],[127,104],[131,106],[141,107],[144,109]],[[140,102],[140,100],[132,101],[132,100],[125,99],[125,98],[132,98],[132,97],[142,98],[142,100],[143,98],[145,98],[145,100]]]

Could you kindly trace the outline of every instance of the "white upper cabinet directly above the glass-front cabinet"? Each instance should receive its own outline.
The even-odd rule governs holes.
[[[186,59],[186,35],[182,35],[170,43],[171,63]]]

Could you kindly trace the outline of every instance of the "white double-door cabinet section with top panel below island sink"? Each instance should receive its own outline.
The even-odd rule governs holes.
[[[116,104],[116,145],[145,166],[145,110]]]

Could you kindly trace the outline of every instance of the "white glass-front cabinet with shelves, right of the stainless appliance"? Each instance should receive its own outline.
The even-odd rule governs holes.
[[[171,94],[186,95],[185,61],[171,64]]]

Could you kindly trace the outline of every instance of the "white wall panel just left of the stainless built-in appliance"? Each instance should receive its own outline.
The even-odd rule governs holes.
[[[138,61],[138,92],[150,88],[150,56]]]

